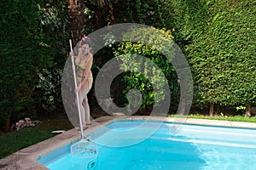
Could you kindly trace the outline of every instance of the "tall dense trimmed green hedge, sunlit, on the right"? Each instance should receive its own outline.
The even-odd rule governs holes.
[[[196,105],[255,103],[255,2],[182,3],[180,37],[195,80]]]

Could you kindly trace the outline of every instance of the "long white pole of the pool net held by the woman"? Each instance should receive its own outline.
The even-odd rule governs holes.
[[[69,45],[70,45],[72,68],[73,68],[73,79],[74,79],[74,83],[75,83],[75,88],[77,88],[78,87],[78,83],[77,83],[77,78],[76,78],[76,71],[75,71],[75,65],[74,65],[74,59],[73,59],[73,48],[72,48],[72,41],[71,41],[71,39],[69,40]],[[83,125],[82,125],[81,108],[80,108],[80,101],[79,101],[79,92],[76,92],[76,96],[77,96],[77,101],[78,101],[77,105],[78,105],[78,109],[79,109],[80,130],[81,130],[82,139],[84,139],[84,131],[83,131]]]

